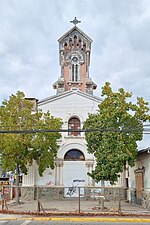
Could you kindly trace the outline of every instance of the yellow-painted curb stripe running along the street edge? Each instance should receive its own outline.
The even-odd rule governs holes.
[[[150,223],[150,218],[108,218],[108,217],[33,217],[33,218],[17,218],[17,217],[11,217],[11,218],[0,218],[0,221],[2,220],[31,220],[31,221],[68,221],[68,222],[145,222]]]

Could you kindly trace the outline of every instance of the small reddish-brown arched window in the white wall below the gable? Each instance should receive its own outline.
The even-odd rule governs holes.
[[[73,130],[68,133],[69,136],[79,136],[80,132],[77,130],[80,130],[80,120],[76,117],[73,117],[68,122],[68,129]]]

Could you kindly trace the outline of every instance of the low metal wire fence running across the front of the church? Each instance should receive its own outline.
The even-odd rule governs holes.
[[[19,190],[19,204],[16,204],[16,189]],[[143,207],[137,205],[136,189],[120,187],[4,186],[0,192],[1,210],[15,213],[150,215],[150,190],[143,191],[141,198]]]

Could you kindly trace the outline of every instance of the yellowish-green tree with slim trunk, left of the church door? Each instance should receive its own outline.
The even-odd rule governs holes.
[[[19,184],[19,173],[27,174],[27,165],[33,160],[38,164],[42,176],[48,167],[54,168],[54,160],[58,150],[59,132],[28,133],[28,130],[59,130],[62,122],[49,112],[33,110],[33,102],[18,91],[4,100],[0,106],[1,130],[14,131],[0,134],[0,151],[4,170],[16,173],[16,186]],[[24,131],[23,133],[16,131]],[[19,201],[18,192],[16,201]]]

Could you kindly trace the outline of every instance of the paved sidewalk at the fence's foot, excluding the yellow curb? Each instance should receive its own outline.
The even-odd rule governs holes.
[[[66,215],[66,216],[147,216],[150,217],[150,210],[144,209],[142,206],[121,202],[105,202],[105,208],[100,208],[98,201],[81,200],[80,204],[76,200],[55,200],[55,201],[22,201],[16,205],[14,201],[7,203],[8,210],[4,208],[5,213],[14,213],[21,215]]]

